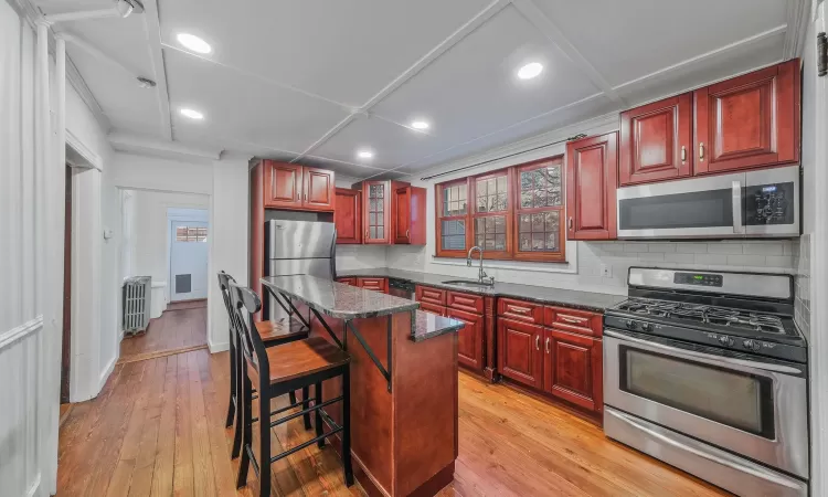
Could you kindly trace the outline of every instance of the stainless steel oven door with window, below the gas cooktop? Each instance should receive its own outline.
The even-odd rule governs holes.
[[[604,330],[604,402],[808,478],[805,367]]]

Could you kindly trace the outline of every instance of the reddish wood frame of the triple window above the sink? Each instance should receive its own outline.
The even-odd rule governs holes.
[[[519,173],[527,169],[538,169],[544,165],[556,163],[561,167],[561,205],[560,207],[544,207],[544,208],[531,208],[521,209],[518,199],[520,198],[520,181]],[[507,177],[507,207],[506,211],[498,212],[477,212],[477,180],[487,179],[493,176],[502,176],[506,172]],[[466,214],[443,216],[443,191],[447,187],[457,186],[465,183],[466,186]],[[546,263],[563,263],[566,261],[566,168],[564,163],[564,156],[552,156],[530,162],[522,162],[506,168],[500,168],[491,171],[486,171],[478,175],[467,176],[434,186],[435,193],[435,254],[437,257],[454,257],[460,258],[467,256],[467,251],[475,245],[476,241],[476,226],[475,220],[478,218],[487,218],[493,215],[506,215],[506,250],[505,251],[486,251],[485,258],[496,261],[519,261],[519,262],[546,262]],[[519,246],[519,215],[531,214],[537,212],[548,211],[560,211],[560,252],[520,252]],[[466,221],[466,248],[464,251],[450,251],[443,250],[442,243],[442,221],[452,221],[463,219]]]

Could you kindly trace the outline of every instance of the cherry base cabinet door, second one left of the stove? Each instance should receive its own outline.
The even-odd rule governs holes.
[[[540,389],[543,380],[543,327],[502,318],[498,318],[497,321],[500,374]]]

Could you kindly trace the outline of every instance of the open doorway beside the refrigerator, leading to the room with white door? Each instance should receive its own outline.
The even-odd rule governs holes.
[[[206,348],[210,199],[121,190],[123,277],[150,276],[150,320],[126,335],[119,363]]]

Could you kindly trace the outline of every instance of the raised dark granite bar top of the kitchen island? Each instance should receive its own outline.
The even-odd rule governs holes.
[[[262,285],[312,309],[340,319],[369,318],[410,311],[420,303],[310,275],[266,276]]]

